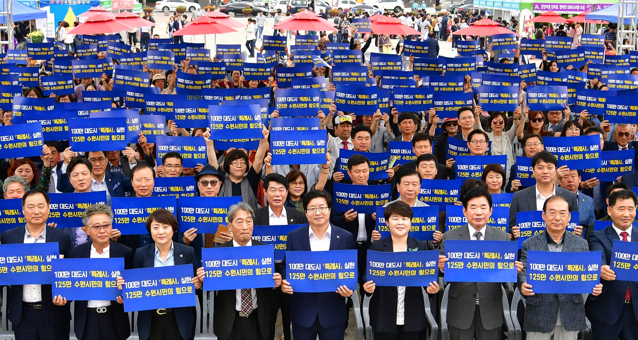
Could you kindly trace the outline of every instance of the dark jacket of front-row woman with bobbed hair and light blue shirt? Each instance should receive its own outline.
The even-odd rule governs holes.
[[[173,258],[175,265],[193,265],[193,276],[197,271],[193,248],[173,242]],[[133,258],[133,269],[155,267],[155,244],[138,248]],[[192,339],[195,334],[195,307],[174,308],[177,327],[182,339]],[[151,313],[154,310],[140,311],[137,316],[137,331],[140,339],[146,340],[151,332]]]

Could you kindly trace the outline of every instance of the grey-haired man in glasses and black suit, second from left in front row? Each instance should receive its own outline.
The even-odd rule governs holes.
[[[124,269],[133,268],[133,251],[110,240],[113,211],[108,205],[94,204],[82,216],[92,242],[71,249],[70,258],[123,258]],[[131,335],[122,297],[117,300],[75,301],[75,336],[80,340],[124,340]]]

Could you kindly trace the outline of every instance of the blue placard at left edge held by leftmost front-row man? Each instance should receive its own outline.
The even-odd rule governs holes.
[[[59,258],[57,242],[0,246],[0,285],[50,285],[51,262]]]

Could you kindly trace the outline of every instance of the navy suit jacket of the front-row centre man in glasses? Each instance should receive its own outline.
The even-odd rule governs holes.
[[[311,250],[308,237],[309,228],[310,225],[305,225],[288,233],[286,252]],[[351,233],[338,226],[332,225],[331,228],[330,250],[355,249],[355,239]],[[286,277],[286,258],[283,260],[281,277]],[[291,295],[290,321],[292,323],[301,327],[311,327],[317,318],[324,328],[345,327],[348,321],[348,308],[345,299],[334,292],[293,293]]]

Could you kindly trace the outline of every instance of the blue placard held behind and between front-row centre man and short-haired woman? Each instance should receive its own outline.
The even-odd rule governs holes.
[[[375,207],[390,202],[391,184],[358,186],[334,183],[334,209],[347,212],[354,209],[359,214],[372,214]]]

